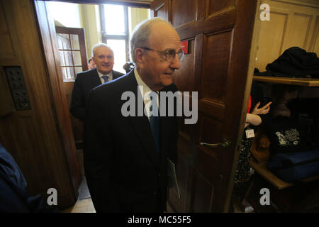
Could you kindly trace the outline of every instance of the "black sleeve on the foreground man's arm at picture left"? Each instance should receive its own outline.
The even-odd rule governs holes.
[[[102,121],[108,116],[101,103],[96,90],[91,90],[84,122],[84,170],[96,212],[117,212],[118,200],[111,184],[113,141],[109,121]]]

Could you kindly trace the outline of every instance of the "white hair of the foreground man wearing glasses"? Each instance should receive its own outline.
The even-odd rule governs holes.
[[[134,63],[136,63],[136,59],[135,59],[136,48],[148,46],[149,44],[148,38],[150,37],[151,28],[155,23],[159,23],[159,22],[164,22],[171,25],[171,23],[167,22],[164,18],[155,17],[155,18],[150,18],[145,21],[142,21],[135,27],[130,38],[130,57]]]

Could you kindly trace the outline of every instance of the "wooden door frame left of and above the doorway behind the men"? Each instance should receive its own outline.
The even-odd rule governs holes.
[[[76,147],[74,143],[74,135],[72,131],[71,117],[67,105],[67,97],[63,89],[62,72],[60,70],[60,58],[57,52],[57,37],[55,32],[55,23],[52,15],[47,10],[45,0],[31,0],[33,1],[35,17],[38,23],[38,33],[42,41],[43,57],[45,57],[47,74],[49,77],[50,89],[52,93],[52,112],[57,119],[57,131],[60,136],[65,150],[65,158],[69,163],[69,175],[72,179],[74,197],[77,197],[77,189],[81,182],[81,177],[77,177],[79,172],[79,165],[76,161],[75,152]],[[62,0],[57,0],[62,1]],[[74,0],[62,1],[74,4],[105,4],[105,0]],[[150,9],[150,3],[142,1],[107,1],[109,4],[124,4],[126,6],[140,7]],[[86,65],[87,66],[87,65]]]

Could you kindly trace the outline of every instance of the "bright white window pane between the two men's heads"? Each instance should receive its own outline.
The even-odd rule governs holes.
[[[107,40],[107,44],[111,46],[114,52],[113,70],[126,73],[123,65],[126,62],[125,40]]]

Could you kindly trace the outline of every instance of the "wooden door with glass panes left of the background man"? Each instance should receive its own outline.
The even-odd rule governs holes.
[[[60,68],[63,77],[63,89],[67,96],[68,108],[71,105],[72,90],[75,78],[79,72],[88,70],[84,28],[55,27],[57,33],[57,50],[60,57]],[[72,114],[72,130],[75,142],[82,141],[82,121]],[[77,143],[76,143],[77,144]]]

